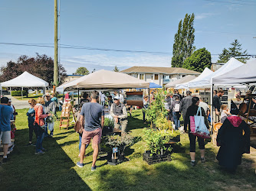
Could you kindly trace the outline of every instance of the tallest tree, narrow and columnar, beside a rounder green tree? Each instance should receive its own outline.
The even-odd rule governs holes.
[[[185,15],[183,20],[179,21],[178,32],[174,36],[174,44],[172,49],[172,66],[182,67],[185,59],[190,57],[195,50],[193,46],[195,40],[194,13]]]

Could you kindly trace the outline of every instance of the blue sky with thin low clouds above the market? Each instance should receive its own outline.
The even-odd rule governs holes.
[[[195,47],[212,54],[238,39],[256,54],[255,0],[61,0],[61,44],[114,50],[172,53],[174,34],[186,13],[195,14]],[[0,43],[54,44],[53,0],[1,0]],[[0,44],[0,66],[26,54],[45,53],[49,47]],[[130,66],[171,66],[171,54],[124,53],[61,49],[68,74],[80,66],[88,70]],[[218,56],[212,55],[212,61]]]

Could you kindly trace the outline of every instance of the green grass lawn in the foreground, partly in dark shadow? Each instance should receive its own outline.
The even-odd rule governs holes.
[[[84,168],[75,164],[79,160],[78,134],[73,128],[59,130],[55,122],[54,138],[46,138],[43,147],[48,149],[43,155],[35,155],[34,147],[28,143],[27,109],[18,110],[15,150],[8,163],[0,167],[0,190],[219,190],[256,189],[254,168],[256,151],[245,154],[241,166],[235,174],[222,170],[215,155],[218,147],[206,144],[206,163],[198,162],[190,166],[189,138],[181,136],[184,153],[172,154],[170,162],[148,165],[142,159],[145,144],[143,136],[142,112],[133,112],[129,117],[129,130],[136,142],[126,150],[130,161],[110,166],[107,160],[98,160],[99,168],[90,171],[92,149],[87,149]],[[33,138],[34,141],[34,138]],[[199,151],[197,151],[199,161]]]

